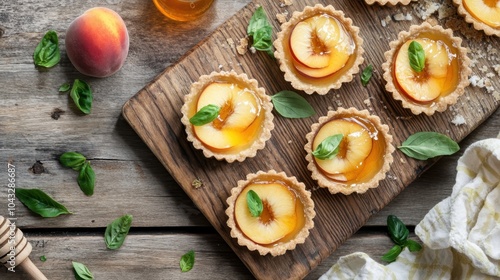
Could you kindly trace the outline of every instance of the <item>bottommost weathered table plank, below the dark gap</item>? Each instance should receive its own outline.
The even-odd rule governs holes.
[[[30,259],[48,279],[73,279],[72,261],[84,263],[96,279],[254,279],[236,254],[217,233],[148,233],[129,234],[123,246],[106,249],[101,234],[26,234],[33,246]],[[411,236],[414,238],[414,236]],[[340,256],[359,248],[378,258],[391,248],[384,232],[370,231],[354,235],[305,279],[317,279]],[[191,271],[182,273],[180,257],[195,251]],[[40,261],[45,256],[46,261]],[[0,278],[21,280],[26,274],[0,267]]]

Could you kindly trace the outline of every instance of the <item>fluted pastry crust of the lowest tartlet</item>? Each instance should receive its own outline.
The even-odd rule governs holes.
[[[304,227],[292,240],[285,243],[277,243],[272,247],[260,245],[246,237],[236,225],[236,220],[234,218],[234,204],[239,194],[248,184],[260,177],[272,177],[287,182],[289,187],[295,190],[304,206]],[[262,256],[267,254],[279,256],[285,254],[287,250],[295,249],[297,244],[305,242],[306,238],[309,236],[309,230],[314,227],[313,218],[316,216],[316,212],[314,211],[314,202],[311,199],[311,192],[306,190],[304,183],[299,182],[295,176],[288,177],[284,172],[278,173],[275,170],[269,170],[268,172],[258,171],[257,173],[248,174],[246,180],[238,181],[238,185],[231,189],[231,196],[227,198],[226,202],[228,204],[228,208],[226,209],[226,215],[228,216],[227,226],[231,229],[231,237],[236,238],[239,245],[246,246],[250,251],[258,251]]]

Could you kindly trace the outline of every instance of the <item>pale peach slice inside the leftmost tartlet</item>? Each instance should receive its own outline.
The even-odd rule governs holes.
[[[194,126],[198,139],[216,149],[228,149],[245,141],[241,133],[260,114],[260,105],[255,94],[229,83],[212,83],[200,94],[197,110],[213,104],[221,109],[213,122]]]

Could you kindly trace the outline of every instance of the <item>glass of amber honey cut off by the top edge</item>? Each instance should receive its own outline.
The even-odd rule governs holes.
[[[162,14],[176,21],[190,21],[200,17],[214,0],[153,0]]]

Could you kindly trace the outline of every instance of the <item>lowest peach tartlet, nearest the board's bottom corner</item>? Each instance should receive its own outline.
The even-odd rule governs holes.
[[[261,212],[254,214],[249,196],[260,199]],[[259,171],[238,181],[227,199],[227,225],[231,237],[260,255],[283,255],[304,243],[316,216],[311,193],[295,177],[274,170]]]

